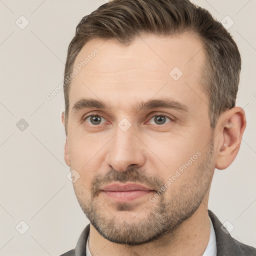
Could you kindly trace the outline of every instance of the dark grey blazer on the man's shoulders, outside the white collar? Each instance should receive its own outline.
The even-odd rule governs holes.
[[[221,229],[221,222],[208,210],[209,217],[212,221],[217,245],[217,256],[256,256],[256,248],[243,244],[227,232]],[[86,256],[86,241],[89,234],[90,225],[88,224],[82,231],[74,249],[61,254],[60,256]]]

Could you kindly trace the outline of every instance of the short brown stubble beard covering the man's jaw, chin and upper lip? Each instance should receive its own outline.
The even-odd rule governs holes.
[[[118,217],[118,212],[131,210],[134,206],[132,203],[116,203],[115,211],[106,209],[107,206],[103,206],[103,203],[97,199],[97,189],[100,184],[98,177],[95,177],[92,182],[90,200],[84,199],[84,194],[79,189],[81,186],[74,185],[78,202],[92,226],[101,236],[111,242],[134,246],[164,239],[167,234],[172,233],[196,211],[207,194],[211,183],[212,169],[214,169],[212,140],[209,144],[204,155],[201,155],[202,160],[193,166],[196,168],[193,180],[191,181],[191,178],[183,179],[183,183],[175,190],[171,189],[170,185],[170,188],[167,188],[154,202],[148,200],[144,209],[137,207],[140,208],[137,210],[137,216],[134,214],[135,216],[132,218],[124,219],[121,214],[122,217]],[[189,168],[185,171],[189,171]],[[147,177],[143,179],[141,173],[136,169],[129,169],[127,172],[113,171],[108,176],[111,182],[149,180]],[[185,172],[182,175],[185,175]],[[179,182],[178,179],[175,182]],[[159,185],[160,180],[152,179],[151,184]],[[103,179],[100,181],[103,182]],[[169,196],[166,198],[168,191]],[[143,210],[145,214],[141,218],[138,213]],[[129,214],[129,211],[127,213]]]

